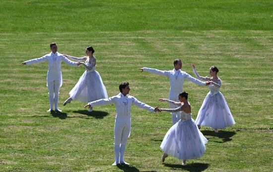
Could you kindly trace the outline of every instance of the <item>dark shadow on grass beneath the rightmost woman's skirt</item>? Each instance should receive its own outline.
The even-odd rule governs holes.
[[[218,137],[219,139],[222,139],[222,142],[218,142],[218,141],[214,141],[214,142],[218,142],[218,143],[224,143],[224,142],[228,142],[231,141],[231,137],[234,136],[236,134],[236,132],[234,131],[219,131],[218,133],[215,133],[214,131],[201,131],[204,135],[208,135],[208,136],[213,136],[213,137]]]

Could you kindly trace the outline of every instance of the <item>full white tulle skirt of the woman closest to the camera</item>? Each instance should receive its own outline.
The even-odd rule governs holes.
[[[166,133],[160,148],[178,159],[197,159],[204,155],[207,139],[193,119],[179,120]]]

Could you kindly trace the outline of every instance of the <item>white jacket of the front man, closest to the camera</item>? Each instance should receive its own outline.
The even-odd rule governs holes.
[[[126,101],[127,104],[124,103],[124,99],[127,99]],[[98,105],[105,105],[105,104],[112,104],[112,103],[114,103],[116,106],[117,118],[123,117],[123,116],[131,116],[132,104],[135,104],[138,107],[141,107],[149,111],[154,110],[153,107],[138,101],[134,96],[131,96],[128,94],[124,96],[121,92],[118,95],[115,95],[113,97],[91,101],[88,104],[90,104],[91,106],[98,106]]]

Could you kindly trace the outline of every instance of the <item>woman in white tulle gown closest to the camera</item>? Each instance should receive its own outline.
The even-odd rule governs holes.
[[[180,102],[168,99],[159,99],[179,106],[175,109],[163,109],[166,112],[180,112],[181,119],[174,124],[166,133],[160,148],[164,151],[162,162],[168,155],[182,159],[183,166],[186,166],[186,160],[197,159],[204,155],[207,139],[199,131],[195,121],[192,119],[191,104],[188,101],[188,93],[183,91],[178,95]]]

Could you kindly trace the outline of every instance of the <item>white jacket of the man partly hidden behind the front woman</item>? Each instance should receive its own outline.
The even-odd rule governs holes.
[[[191,75],[189,75],[188,73],[181,71],[181,70],[176,71],[175,69],[173,69],[172,71],[161,71],[161,70],[152,69],[152,68],[143,68],[143,71],[147,71],[152,74],[157,74],[157,75],[168,77],[170,80],[170,93],[171,92],[175,92],[175,93],[182,92],[183,85],[184,85],[184,79],[187,79],[195,84],[205,86],[205,82],[200,81],[196,78],[193,78]]]

